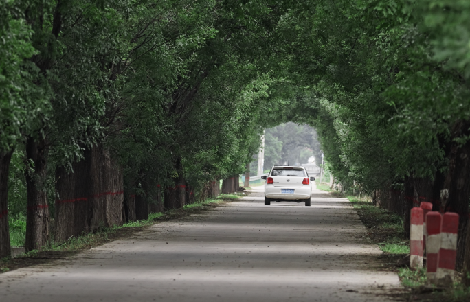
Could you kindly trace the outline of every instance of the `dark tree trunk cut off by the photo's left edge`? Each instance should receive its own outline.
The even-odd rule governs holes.
[[[8,172],[13,150],[0,152],[0,259],[12,255],[8,229]]]

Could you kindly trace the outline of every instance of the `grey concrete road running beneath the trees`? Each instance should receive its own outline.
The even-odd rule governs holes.
[[[399,288],[348,200],[252,196],[153,225],[47,266],[0,275],[1,301],[388,301]]]

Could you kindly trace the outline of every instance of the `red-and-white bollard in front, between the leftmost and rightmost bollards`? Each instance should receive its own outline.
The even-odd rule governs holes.
[[[427,239],[426,239],[426,269],[427,281],[436,283],[436,272],[438,266],[438,254],[440,249],[440,225],[442,216],[438,211],[432,211],[425,216]]]

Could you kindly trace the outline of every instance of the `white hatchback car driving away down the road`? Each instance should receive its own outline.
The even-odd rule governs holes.
[[[271,201],[305,202],[311,205],[312,185],[315,177],[309,177],[304,167],[275,166],[267,176],[261,176],[265,183],[265,205]]]

